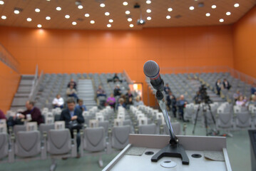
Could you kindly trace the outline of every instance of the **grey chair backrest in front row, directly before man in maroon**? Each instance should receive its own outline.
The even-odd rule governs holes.
[[[15,155],[34,157],[41,152],[41,138],[38,130],[19,131],[16,134]]]

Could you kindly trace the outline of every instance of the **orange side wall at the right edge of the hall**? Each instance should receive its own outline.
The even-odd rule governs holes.
[[[256,6],[233,26],[234,68],[256,78]]]

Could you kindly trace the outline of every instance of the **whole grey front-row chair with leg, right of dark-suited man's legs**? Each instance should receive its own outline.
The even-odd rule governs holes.
[[[100,167],[103,167],[101,153],[102,151],[105,151],[107,147],[104,128],[98,127],[84,129],[81,134],[81,140],[81,156],[84,155],[83,150],[93,152],[94,155],[99,155],[98,164]]]

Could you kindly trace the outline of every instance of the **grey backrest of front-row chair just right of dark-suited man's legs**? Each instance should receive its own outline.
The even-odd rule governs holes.
[[[106,148],[104,128],[86,128],[83,136],[83,148],[90,152],[99,152],[104,150]]]

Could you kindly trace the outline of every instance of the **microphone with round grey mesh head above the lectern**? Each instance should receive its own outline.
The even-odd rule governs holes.
[[[160,68],[155,61],[147,61],[143,66],[145,76],[150,78],[150,83],[155,90],[163,91],[164,83],[160,76]]]

